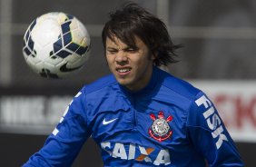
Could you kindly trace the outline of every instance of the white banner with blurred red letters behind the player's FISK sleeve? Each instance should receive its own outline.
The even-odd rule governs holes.
[[[234,141],[256,142],[256,81],[192,84],[210,97]]]

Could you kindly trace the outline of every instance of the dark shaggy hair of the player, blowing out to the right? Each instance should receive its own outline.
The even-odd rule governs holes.
[[[109,15],[110,20],[104,25],[102,32],[104,48],[107,37],[114,41],[114,36],[124,44],[135,47],[137,36],[155,54],[153,63],[156,66],[178,62],[175,51],[182,44],[172,44],[166,25],[143,7],[129,3]]]

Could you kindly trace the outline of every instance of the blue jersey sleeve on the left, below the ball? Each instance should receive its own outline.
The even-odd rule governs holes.
[[[72,166],[75,157],[90,136],[85,113],[85,95],[80,92],[68,105],[60,123],[44,142],[43,148],[34,153],[23,166]]]

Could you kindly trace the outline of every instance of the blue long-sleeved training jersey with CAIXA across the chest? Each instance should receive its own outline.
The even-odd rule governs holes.
[[[211,100],[156,67],[135,93],[113,75],[84,86],[24,167],[72,166],[90,136],[104,166],[243,166]]]

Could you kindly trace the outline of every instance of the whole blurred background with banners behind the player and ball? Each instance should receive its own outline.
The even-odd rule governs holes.
[[[109,74],[101,30],[123,0],[0,0],[0,166],[21,166],[44,144],[67,104],[85,83]],[[137,0],[162,18],[180,63],[165,70],[192,82],[216,104],[246,166],[256,153],[256,1]],[[62,11],[75,15],[92,39],[79,74],[47,80],[34,74],[22,54],[23,35],[35,17]],[[89,139],[74,167],[102,166]]]

